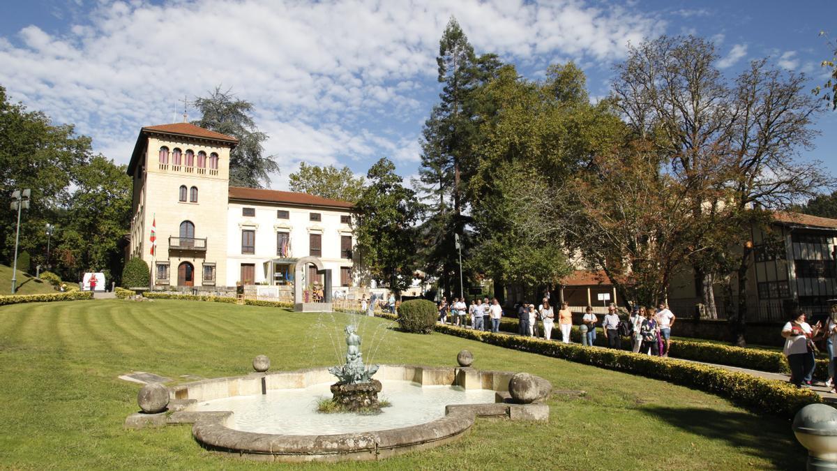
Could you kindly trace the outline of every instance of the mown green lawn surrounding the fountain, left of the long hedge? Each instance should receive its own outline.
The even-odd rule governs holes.
[[[117,376],[135,370],[180,380],[244,375],[259,354],[270,356],[271,370],[334,365],[347,317],[169,300],[0,308],[0,468],[265,466],[204,451],[187,426],[123,430],[125,417],[137,410],[140,386]],[[588,394],[553,396],[548,424],[480,419],[459,441],[433,450],[329,468],[804,468],[805,450],[788,421],[716,396],[444,334],[403,334],[379,318],[361,320],[367,360],[452,365],[460,349],[470,349],[480,369],[529,371],[557,390]]]

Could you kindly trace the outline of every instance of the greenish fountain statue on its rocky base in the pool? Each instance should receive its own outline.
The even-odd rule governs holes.
[[[346,326],[346,364],[332,366],[328,372],[337,377],[331,385],[332,400],[341,411],[379,411],[377,393],[381,392],[381,381],[372,380],[380,365],[363,365],[361,337],[354,325]]]

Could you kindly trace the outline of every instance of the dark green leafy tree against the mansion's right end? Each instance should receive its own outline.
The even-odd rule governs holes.
[[[415,192],[382,158],[369,168],[367,187],[355,207],[362,278],[383,280],[396,292],[407,289],[413,281],[414,225],[420,210]]]

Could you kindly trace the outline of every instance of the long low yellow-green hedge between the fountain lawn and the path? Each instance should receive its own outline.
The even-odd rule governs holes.
[[[380,317],[395,320],[392,314],[380,314]],[[822,399],[814,391],[798,389],[784,381],[765,380],[747,373],[728,371],[716,366],[699,365],[673,358],[660,358],[616,349],[591,349],[581,344],[562,344],[554,340],[509,334],[492,334],[452,325],[437,324],[435,329],[443,334],[455,335],[485,344],[518,349],[608,370],[624,371],[657,380],[666,380],[680,386],[693,387],[717,396],[726,397],[758,413],[768,412],[789,418],[793,417],[793,414],[803,406],[822,402]]]

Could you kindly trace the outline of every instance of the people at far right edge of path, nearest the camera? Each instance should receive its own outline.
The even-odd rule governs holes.
[[[815,342],[824,339],[829,354],[829,380],[825,386],[831,388],[829,392],[837,393],[834,387],[837,385],[834,378],[834,364],[837,362],[837,358],[834,357],[834,344],[837,343],[837,305],[831,306],[825,325],[818,321],[812,326],[806,322],[807,318],[804,311],[796,311],[782,328],[782,336],[785,338],[783,352],[790,365],[790,382],[797,387],[811,387],[817,354]]]

